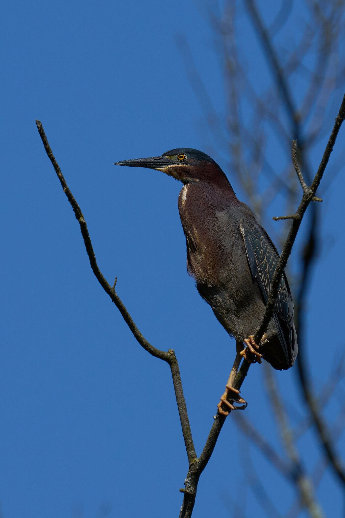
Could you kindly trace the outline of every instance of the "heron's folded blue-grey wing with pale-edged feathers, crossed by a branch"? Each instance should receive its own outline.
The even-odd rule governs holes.
[[[246,224],[247,223],[247,224]],[[257,280],[264,304],[267,304],[271,291],[272,279],[279,261],[279,253],[265,229],[257,221],[240,223],[249,267]],[[293,363],[294,329],[293,301],[285,272],[279,284],[278,297],[273,319],[275,320],[278,338],[289,367]]]

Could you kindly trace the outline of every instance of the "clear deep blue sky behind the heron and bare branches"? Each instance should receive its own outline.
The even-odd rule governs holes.
[[[274,5],[264,3],[267,19]],[[200,453],[233,361],[234,342],[187,275],[177,211],[181,185],[158,171],[112,164],[179,146],[206,151],[214,146],[203,130],[188,67],[175,41],[176,35],[187,37],[202,80],[222,112],[222,76],[206,9],[182,0],[19,1],[3,11],[4,518],[95,518],[107,510],[111,517],[176,516],[187,458],[169,368],[141,350],[96,281],[35,119],[42,121],[82,208],[103,275],[111,283],[117,276],[117,292],[144,336],[158,348],[176,351]],[[261,88],[267,69],[256,37],[243,23],[244,52],[258,54],[252,74]],[[332,99],[334,117],[341,98],[338,92]],[[337,147],[342,150],[343,139],[340,133]],[[324,145],[322,140],[312,157],[314,166]],[[283,160],[276,148],[272,160]],[[336,362],[334,348],[343,348],[343,189],[340,174],[323,196],[323,246],[308,298],[307,346],[316,386]],[[277,209],[272,215],[280,215]],[[278,381],[296,407],[291,410],[296,424],[303,409],[296,373],[279,373]],[[271,434],[275,424],[262,384],[260,368],[254,366],[242,391],[250,402],[246,416],[263,434],[268,428]],[[326,410],[331,422],[341,394]],[[278,439],[276,445],[279,450]],[[298,446],[306,467],[313,466],[319,453],[312,434]],[[343,441],[338,447],[344,457]],[[244,502],[248,516],[264,515],[241,468],[244,450],[230,417],[203,473],[196,516],[230,516],[229,500],[235,498]],[[295,498],[291,486],[251,451],[284,514]],[[329,516],[341,515],[341,493],[331,472],[318,497]]]

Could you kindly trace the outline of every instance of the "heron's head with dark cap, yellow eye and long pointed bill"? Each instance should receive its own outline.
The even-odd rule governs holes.
[[[115,162],[115,165],[156,169],[184,184],[200,181],[212,182],[220,179],[226,179],[229,183],[219,165],[210,156],[191,148],[171,149],[160,156],[123,160],[122,162]]]

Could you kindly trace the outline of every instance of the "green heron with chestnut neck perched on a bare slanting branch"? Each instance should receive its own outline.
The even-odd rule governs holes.
[[[254,213],[237,199],[219,165],[205,153],[172,149],[161,156],[116,165],[157,169],[183,183],[178,210],[187,241],[188,273],[218,321],[236,340],[236,358],[218,409],[228,415],[229,410],[245,408],[232,404],[246,404],[232,387],[242,357],[249,363],[261,363],[263,357],[281,370],[289,369],[297,356],[293,301],[285,274],[273,318],[261,340],[262,353],[253,340],[279,260],[276,247]]]

